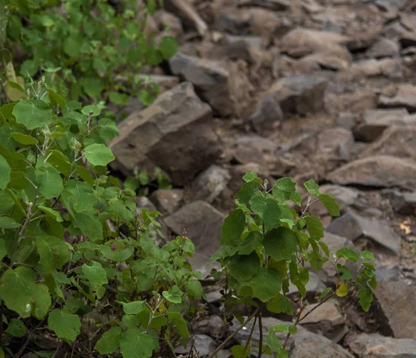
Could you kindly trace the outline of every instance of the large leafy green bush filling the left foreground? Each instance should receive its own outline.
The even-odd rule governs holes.
[[[184,316],[202,296],[193,244],[155,245],[159,213],[136,208],[135,191],[108,174],[105,141],[118,131],[102,103],[67,102],[43,80],[29,87],[0,107],[0,357],[21,357],[34,328],[78,339],[87,355],[85,320],[104,332],[93,352],[167,357],[189,338]]]

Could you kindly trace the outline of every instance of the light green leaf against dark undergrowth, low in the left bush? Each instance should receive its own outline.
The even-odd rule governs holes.
[[[56,333],[58,338],[73,342],[81,332],[80,316],[65,310],[53,310],[49,314],[48,327]]]

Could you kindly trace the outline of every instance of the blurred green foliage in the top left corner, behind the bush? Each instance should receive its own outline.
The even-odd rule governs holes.
[[[157,5],[147,0],[137,11],[137,0],[2,1],[0,35],[7,46],[1,51],[3,63],[11,62],[5,58],[17,57],[21,50],[30,56],[19,64],[19,75],[6,73],[1,78],[2,83],[8,81],[8,99],[21,98],[14,89],[24,78],[44,75],[64,98],[105,99],[123,106],[130,94],[150,104],[159,89],[137,73],[142,66],[157,65],[177,51],[173,37],[164,36],[157,44],[153,34],[145,33],[146,16]],[[116,80],[117,75],[123,81]]]

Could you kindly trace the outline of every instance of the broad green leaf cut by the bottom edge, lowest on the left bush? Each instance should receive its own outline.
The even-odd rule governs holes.
[[[150,358],[153,355],[153,338],[139,328],[129,328],[120,339],[120,352],[123,358]]]

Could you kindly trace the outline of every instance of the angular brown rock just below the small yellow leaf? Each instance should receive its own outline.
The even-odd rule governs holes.
[[[311,312],[319,303],[313,303],[303,311],[303,314]],[[320,305],[316,310],[311,312],[309,316],[300,323],[307,330],[321,334],[324,337],[338,343],[348,332],[345,324],[345,317],[341,314],[335,301],[327,301]]]

